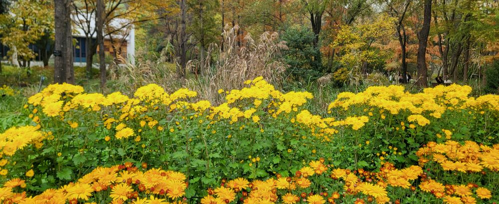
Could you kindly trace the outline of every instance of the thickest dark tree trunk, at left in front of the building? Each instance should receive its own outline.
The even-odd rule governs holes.
[[[54,0],[55,50],[54,82],[74,83],[71,18],[71,0]]]

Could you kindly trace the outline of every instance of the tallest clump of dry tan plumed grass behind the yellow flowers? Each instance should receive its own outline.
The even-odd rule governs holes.
[[[283,73],[287,65],[280,60],[281,50],[288,49],[285,41],[279,41],[277,32],[264,32],[258,40],[250,34],[244,38],[245,44],[237,45],[238,27],[225,27],[222,46],[213,44],[209,47],[203,62],[212,66],[203,72],[196,91],[201,97],[214,103],[221,101],[217,91],[241,88],[243,82],[263,76],[265,80],[281,87]],[[211,56],[211,57],[210,57]]]

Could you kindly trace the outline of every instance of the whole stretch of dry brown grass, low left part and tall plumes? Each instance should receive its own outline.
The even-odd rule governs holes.
[[[168,62],[168,54],[164,52],[156,60],[136,57],[136,65],[120,58],[121,64],[113,65],[110,70],[110,79],[114,81],[112,86],[117,86],[111,89],[126,90],[125,93],[131,94],[131,91],[149,83],[156,83],[169,92],[185,87],[197,91],[200,98],[218,104],[223,99],[218,94],[219,89],[239,89],[244,81],[258,76],[281,87],[287,65],[280,56],[281,50],[288,49],[286,42],[279,41],[277,32],[265,32],[258,40],[247,34],[244,46],[239,47],[237,29],[237,25],[226,26],[222,46],[214,43],[207,49],[205,59],[188,61],[187,70],[191,74],[187,79],[177,77],[175,66],[179,66],[178,63]],[[206,68],[196,76],[194,70],[200,70],[201,63]]]

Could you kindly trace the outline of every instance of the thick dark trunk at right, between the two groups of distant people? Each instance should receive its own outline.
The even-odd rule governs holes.
[[[428,45],[428,35],[430,34],[430,23],[432,21],[432,0],[425,0],[425,11],[423,17],[423,27],[418,35],[418,85],[426,87],[428,85],[428,67],[426,66],[426,47]]]

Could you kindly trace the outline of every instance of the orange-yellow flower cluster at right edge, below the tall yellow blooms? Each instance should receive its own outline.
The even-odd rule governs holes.
[[[489,147],[466,141],[465,144],[452,140],[437,144],[429,142],[418,150],[420,165],[429,161],[440,164],[446,171],[481,172],[484,168],[491,171],[499,169],[499,144]]]

